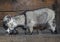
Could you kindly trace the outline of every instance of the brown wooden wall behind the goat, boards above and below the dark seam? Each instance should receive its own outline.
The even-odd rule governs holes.
[[[5,15],[17,15],[24,10],[34,10],[39,8],[52,8],[55,0],[0,0],[0,26]]]

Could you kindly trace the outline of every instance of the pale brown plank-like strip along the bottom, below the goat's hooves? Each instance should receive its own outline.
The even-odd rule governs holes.
[[[0,42],[60,42],[60,36],[48,35],[10,35],[0,36]]]

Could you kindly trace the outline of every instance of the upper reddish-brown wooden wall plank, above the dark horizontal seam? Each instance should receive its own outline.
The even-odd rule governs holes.
[[[0,11],[33,10],[48,7],[54,4],[54,0],[6,0],[0,1]]]

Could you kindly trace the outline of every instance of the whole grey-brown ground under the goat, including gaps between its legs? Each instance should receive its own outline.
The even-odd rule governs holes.
[[[17,30],[19,34],[8,35],[0,27],[0,42],[60,42],[60,34],[51,34],[49,30],[39,31],[39,34],[34,31],[33,35],[25,35],[21,28]]]

